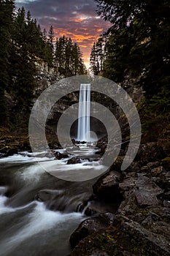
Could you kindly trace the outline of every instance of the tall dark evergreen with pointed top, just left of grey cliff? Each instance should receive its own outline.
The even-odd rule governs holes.
[[[26,18],[26,12],[22,7],[14,20],[10,75],[13,97],[18,109],[23,111],[30,110],[34,97],[35,57],[39,53],[37,35],[36,21],[31,20],[29,12]]]

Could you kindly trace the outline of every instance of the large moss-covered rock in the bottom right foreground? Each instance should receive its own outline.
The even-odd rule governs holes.
[[[109,223],[108,223],[109,224]],[[168,256],[169,240],[158,236],[127,217],[116,215],[106,228],[93,227],[86,238],[75,246],[71,255],[152,255]],[[81,225],[80,225],[81,228]],[[85,235],[85,233],[84,233]],[[73,237],[76,236],[74,233]],[[79,236],[80,238],[80,236]],[[82,237],[81,237],[82,238]]]

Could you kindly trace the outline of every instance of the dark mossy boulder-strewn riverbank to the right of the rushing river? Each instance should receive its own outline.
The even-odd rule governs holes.
[[[70,238],[71,255],[170,254],[169,143],[145,143],[124,172],[123,157],[93,184],[98,201],[117,204],[115,213],[96,213]]]

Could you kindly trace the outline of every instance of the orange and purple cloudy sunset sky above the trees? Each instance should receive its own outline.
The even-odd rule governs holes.
[[[16,0],[17,7],[30,10],[42,29],[53,25],[55,37],[71,37],[83,53],[86,67],[93,42],[110,24],[96,14],[94,0]]]

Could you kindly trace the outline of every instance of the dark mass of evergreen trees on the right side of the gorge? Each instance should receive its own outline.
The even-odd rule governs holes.
[[[152,128],[170,112],[170,1],[96,1],[111,26],[93,45],[90,69],[117,83],[135,78]]]

